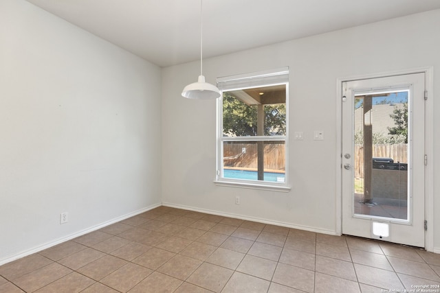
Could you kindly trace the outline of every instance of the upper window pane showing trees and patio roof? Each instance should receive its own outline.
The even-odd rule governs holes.
[[[223,92],[223,137],[286,134],[286,85]]]

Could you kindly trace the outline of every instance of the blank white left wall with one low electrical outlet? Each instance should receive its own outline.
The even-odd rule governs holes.
[[[0,264],[160,204],[160,97],[159,67],[0,1]]]

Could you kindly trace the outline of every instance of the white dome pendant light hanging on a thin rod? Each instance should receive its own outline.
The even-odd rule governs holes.
[[[183,97],[188,99],[217,99],[220,97],[220,91],[217,86],[205,82],[203,76],[203,36],[202,36],[202,18],[203,18],[203,0],[200,0],[200,75],[197,82],[185,86],[181,92]]]

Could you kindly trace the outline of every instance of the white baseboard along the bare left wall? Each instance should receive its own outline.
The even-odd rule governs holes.
[[[41,246],[37,246],[37,247],[31,248],[29,250],[25,250],[22,253],[19,253],[17,255],[12,255],[12,256],[7,257],[5,259],[0,259],[0,266],[5,264],[5,263],[9,263],[11,261],[17,260],[17,259],[21,259],[22,257],[27,257],[28,255],[32,255],[34,253],[38,253],[38,252],[40,252],[42,250],[45,250],[45,249],[50,248],[52,246],[56,246],[57,244],[61,244],[61,243],[66,242],[66,241],[68,241],[70,239],[74,239],[74,238],[79,237],[81,235],[85,235],[87,233],[99,230],[100,228],[104,228],[105,226],[109,226],[111,224],[115,224],[115,223],[120,222],[122,220],[125,220],[127,218],[131,218],[131,217],[133,217],[133,215],[139,215],[140,213],[144,213],[144,212],[149,211],[151,209],[154,209],[156,207],[160,207],[161,205],[162,205],[162,203],[153,204],[153,205],[151,205],[149,207],[146,207],[144,209],[139,209],[137,211],[133,211],[131,213],[127,213],[126,215],[122,215],[122,216],[120,216],[118,218],[114,218],[112,220],[109,220],[107,222],[104,222],[104,223],[92,226],[92,227],[87,228],[85,230],[78,231],[76,233],[67,235],[65,237],[58,238],[58,239],[56,239],[54,241],[51,241],[51,242],[47,242],[46,244],[43,244]]]

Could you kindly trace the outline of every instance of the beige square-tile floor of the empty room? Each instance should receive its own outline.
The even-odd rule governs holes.
[[[158,207],[0,266],[0,292],[440,292],[439,275],[418,248]]]

